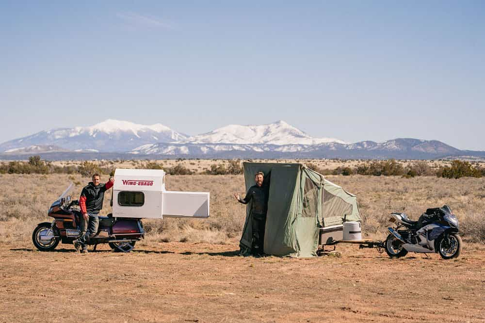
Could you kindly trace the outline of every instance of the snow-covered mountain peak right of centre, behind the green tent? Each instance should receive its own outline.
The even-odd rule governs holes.
[[[318,145],[345,142],[335,138],[312,138],[300,129],[284,121],[268,125],[228,125],[213,131],[189,137],[185,141],[193,144],[266,144],[266,145]]]

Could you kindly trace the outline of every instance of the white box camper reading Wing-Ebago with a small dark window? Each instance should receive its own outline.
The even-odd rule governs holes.
[[[209,192],[165,190],[161,169],[124,169],[114,172],[113,216],[127,218],[207,218]]]

